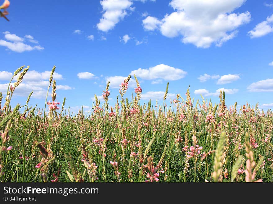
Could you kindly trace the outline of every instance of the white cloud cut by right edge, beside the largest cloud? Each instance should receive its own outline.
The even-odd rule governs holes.
[[[273,32],[273,14],[268,16],[266,20],[257,24],[253,30],[248,32],[250,38],[259,38]]]

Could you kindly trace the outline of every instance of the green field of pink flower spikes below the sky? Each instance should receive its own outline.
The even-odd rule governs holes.
[[[194,102],[190,87],[167,105],[168,84],[155,106],[142,104],[129,75],[115,107],[108,83],[91,114],[72,115],[65,98],[56,102],[55,66],[43,109],[29,107],[32,93],[11,108],[28,69],[0,93],[1,182],[273,182],[271,110],[226,107],[224,92],[218,104]],[[125,98],[130,80],[137,87]]]

